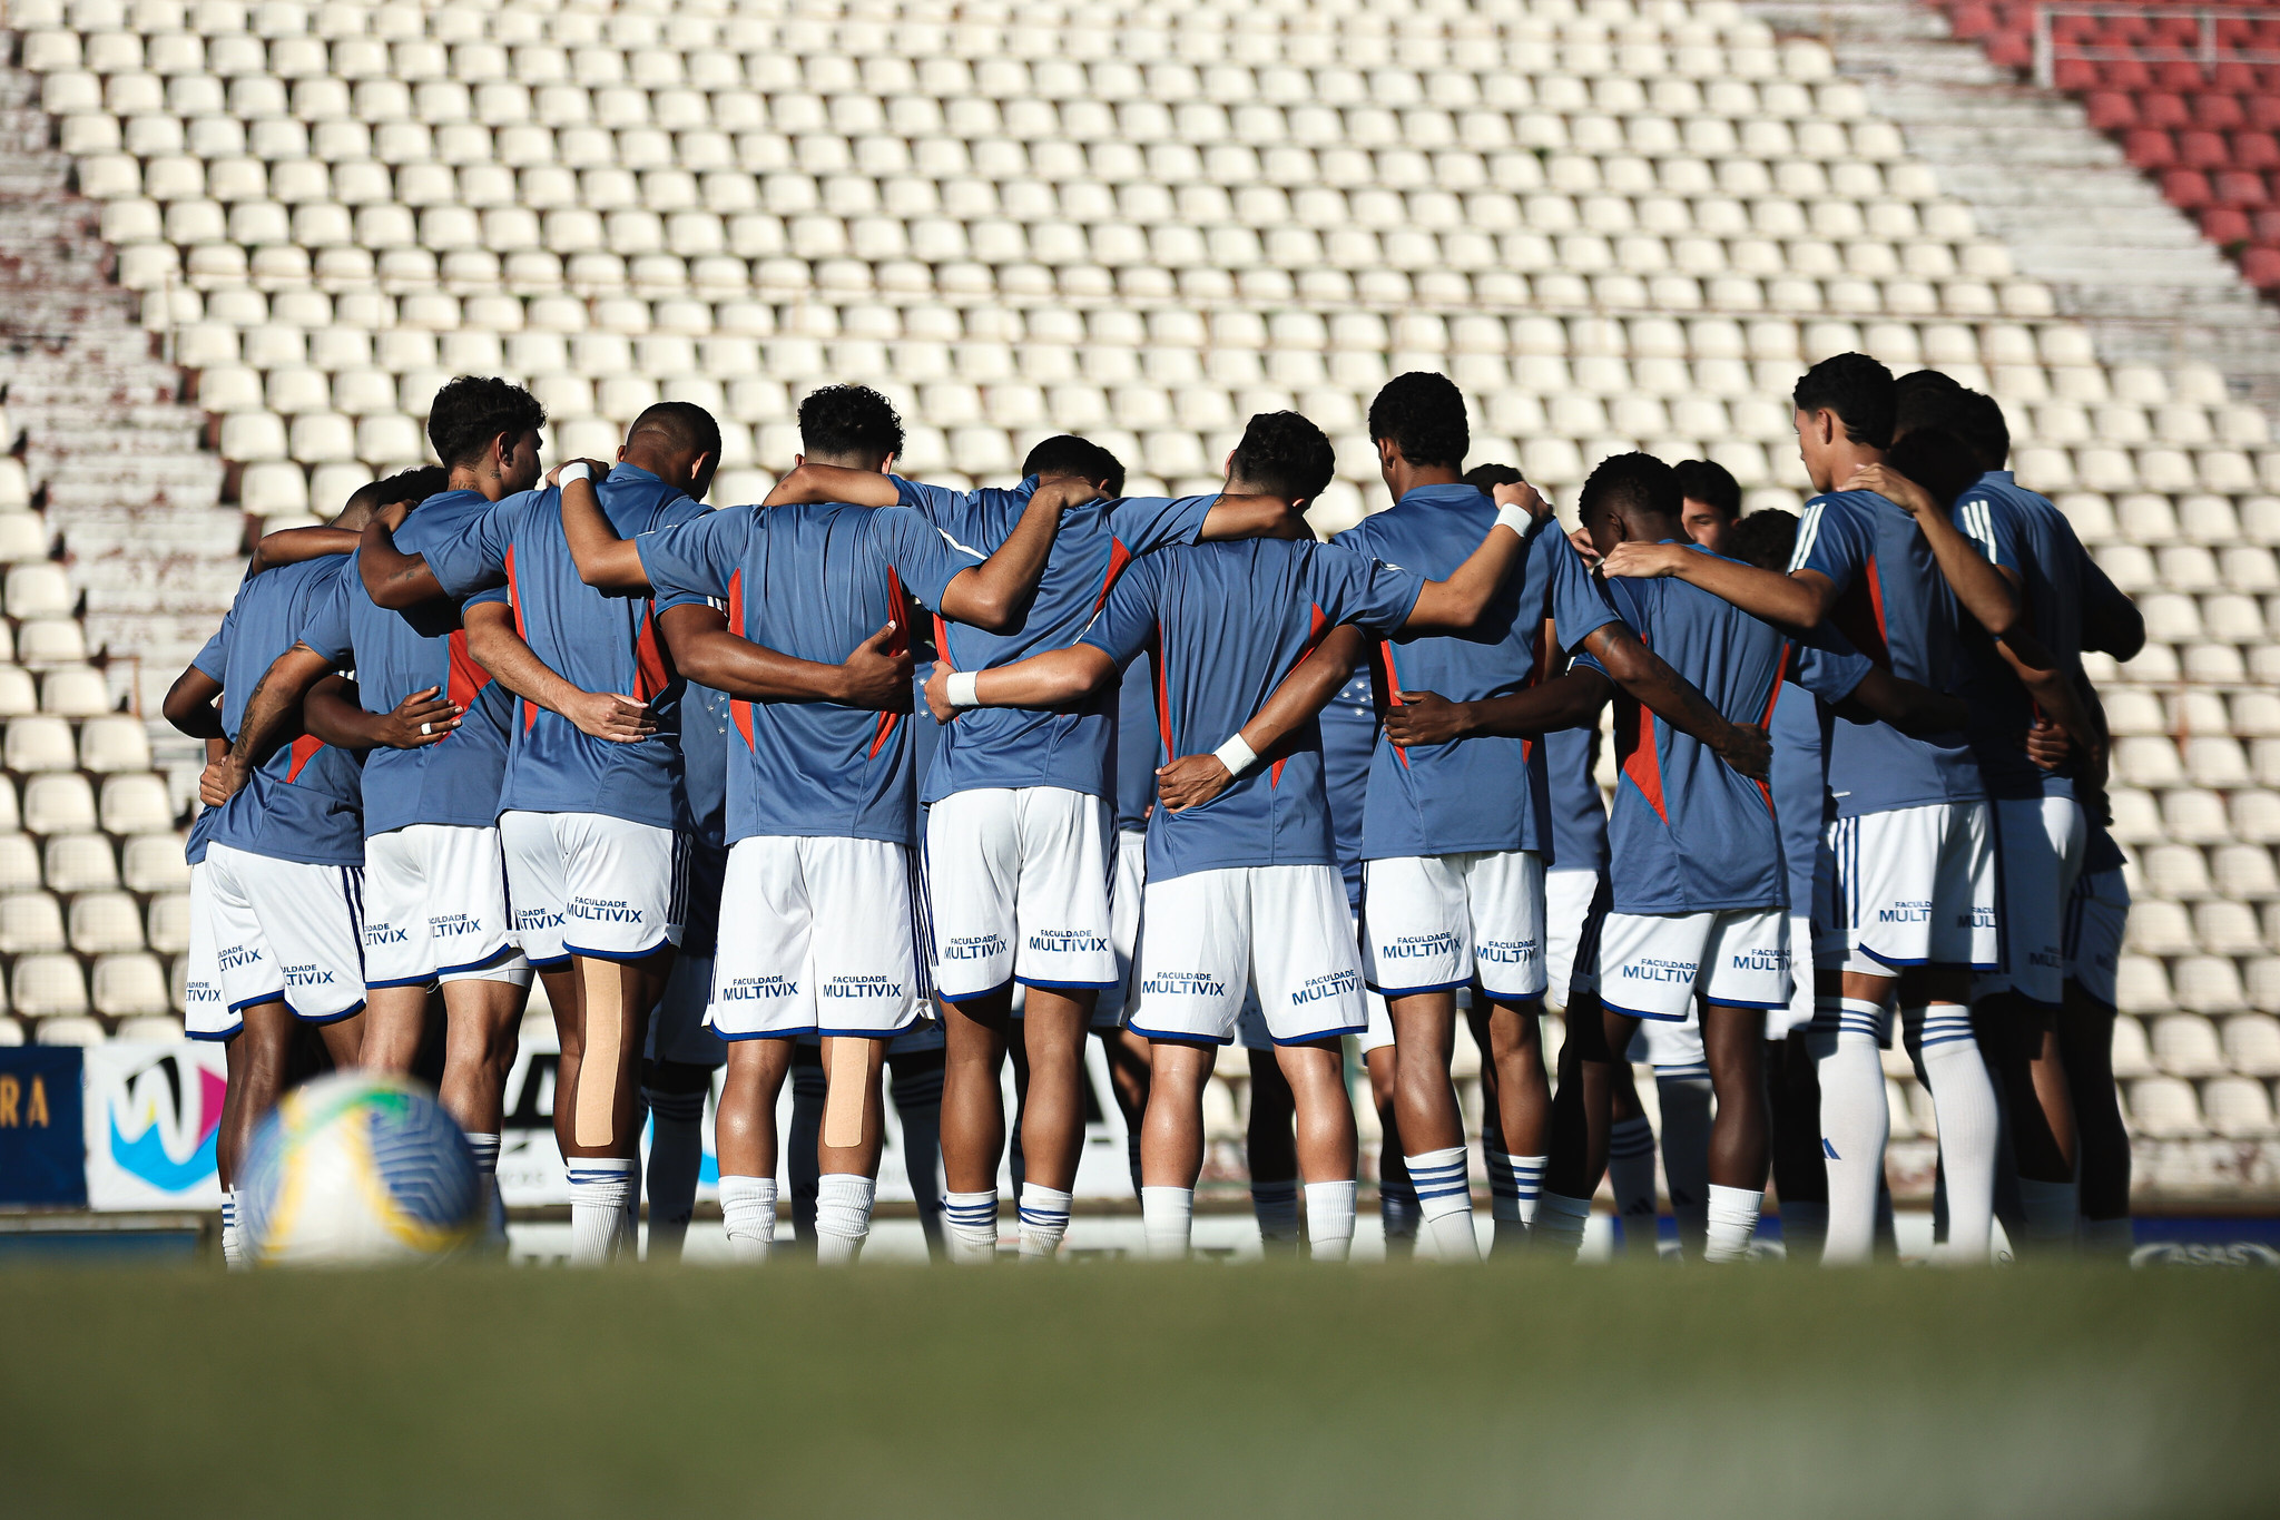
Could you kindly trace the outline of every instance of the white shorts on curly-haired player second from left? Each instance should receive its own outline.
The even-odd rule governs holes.
[[[367,987],[529,978],[506,921],[499,830],[408,823],[365,841]]]

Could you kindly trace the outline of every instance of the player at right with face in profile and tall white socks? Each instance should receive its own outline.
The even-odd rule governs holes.
[[[1892,442],[1892,374],[1863,353],[1822,360],[1794,392],[1799,453],[1817,495],[1790,574],[1626,542],[1610,577],[1683,577],[1792,631],[1833,622],[1881,668],[1947,690],[1963,661],[1956,604],[1931,545],[1897,504],[1838,490]],[[1813,1053],[1822,1082],[1831,1265],[1867,1260],[1890,1135],[1879,1048],[1895,996],[1920,1023],[1949,1190],[1949,1249],[1986,1260],[1993,1237],[1995,1092],[1965,996],[1997,964],[1993,818],[1961,732],[1913,736],[1842,722],[1829,745],[1835,877],[1831,918],[1815,916]]]

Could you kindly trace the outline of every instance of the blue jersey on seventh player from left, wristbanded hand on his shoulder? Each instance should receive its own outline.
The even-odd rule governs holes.
[[[1496,501],[1471,485],[1420,485],[1391,510],[1363,517],[1336,542],[1430,579],[1455,574],[1496,526]],[[1546,622],[1553,624],[1550,638]],[[1530,533],[1523,567],[1464,636],[1386,640],[1377,649],[1384,700],[1432,690],[1480,702],[1525,690],[1553,675],[1557,647],[1580,645],[1614,622],[1560,526]],[[1555,643],[1557,647],[1555,647]],[[1544,761],[1532,738],[1477,736],[1446,745],[1377,745],[1363,859],[1550,845]]]

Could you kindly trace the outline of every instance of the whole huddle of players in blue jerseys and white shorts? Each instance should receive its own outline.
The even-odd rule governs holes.
[[[1459,1014],[1496,1251],[1573,1256],[1610,1174],[1635,1219],[1642,1155],[1651,1217],[1639,1060],[1683,1249],[1744,1258],[1772,1176],[1792,1256],[1867,1260],[1895,1032],[1947,1258],[1997,1215],[2016,1249],[2127,1240],[2082,652],[2143,624],[2004,469],[1990,399],[1847,353],[1794,408],[1801,517],[1623,453],[1564,533],[1516,469],[1466,472],[1459,390],[1404,374],[1368,412],[1391,506],[1318,542],[1334,451],[1295,412],[1252,417],[1215,495],[1126,497],[1074,435],[951,490],[832,385],[768,499],[711,510],[702,408],[543,472],[538,403],[451,381],[442,465],[264,538],[166,700],[210,754],[187,1023],[228,1041],[226,1249],[296,1025],[408,1071],[440,998],[488,1174],[534,975],[572,1260],[632,1249],[650,1123],[650,1253],[679,1249],[720,1067],[734,1258],[791,1203],[855,1260],[891,1094],[930,1240],[994,1260],[1008,1055],[1019,1251],[1051,1258],[1092,1037],[1151,1256],[1190,1249],[1236,1041],[1268,1249],[1347,1256],[1357,1037],[1389,1251],[1473,1258]]]

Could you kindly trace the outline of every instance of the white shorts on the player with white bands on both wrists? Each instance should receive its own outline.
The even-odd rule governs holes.
[[[1233,866],[1147,884],[1131,1030],[1224,1046],[1252,989],[1279,1046],[1363,1032],[1354,918],[1336,866]]]

